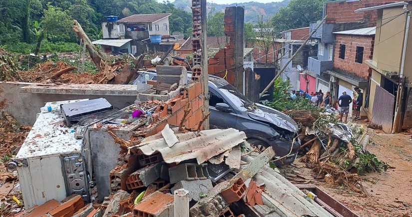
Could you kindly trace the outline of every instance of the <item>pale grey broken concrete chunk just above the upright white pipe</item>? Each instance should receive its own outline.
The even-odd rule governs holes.
[[[202,195],[207,195],[207,193],[213,189],[212,181],[209,179],[203,180],[181,180],[177,182],[171,189],[174,192],[178,189],[184,189],[189,191],[190,200],[199,201]]]

